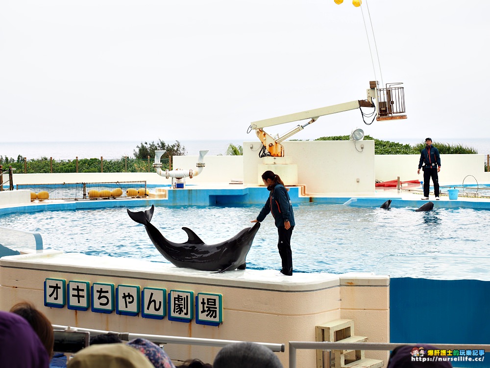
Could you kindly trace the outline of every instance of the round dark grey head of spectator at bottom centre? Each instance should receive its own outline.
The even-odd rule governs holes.
[[[279,358],[264,345],[238,342],[223,347],[213,362],[213,368],[283,368]]]

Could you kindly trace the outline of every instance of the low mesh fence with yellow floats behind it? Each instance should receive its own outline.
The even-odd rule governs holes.
[[[31,201],[47,199],[116,199],[147,197],[147,182],[17,184],[30,190]]]

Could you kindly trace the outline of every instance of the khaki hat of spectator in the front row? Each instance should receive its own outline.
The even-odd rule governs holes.
[[[67,368],[153,368],[138,350],[126,344],[96,344],[77,352]]]

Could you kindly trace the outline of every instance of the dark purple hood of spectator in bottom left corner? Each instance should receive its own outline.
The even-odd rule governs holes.
[[[49,354],[25,318],[0,311],[0,362],[9,368],[48,368]]]

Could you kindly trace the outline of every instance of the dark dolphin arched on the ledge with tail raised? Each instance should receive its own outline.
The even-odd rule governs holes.
[[[201,271],[224,271],[245,269],[245,258],[252,245],[253,238],[260,228],[260,222],[251,228],[245,228],[234,237],[218,244],[204,244],[191,229],[183,227],[189,237],[184,243],[167,240],[150,221],[155,207],[146,211],[127,210],[132,220],[145,225],[148,237],[158,251],[177,267],[194,268]]]

